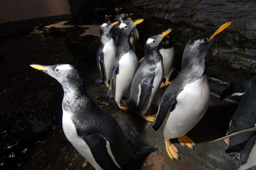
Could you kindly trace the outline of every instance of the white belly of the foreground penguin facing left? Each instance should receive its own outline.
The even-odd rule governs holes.
[[[65,136],[68,138],[68,141],[76,148],[76,150],[87,159],[90,164],[99,170],[103,170],[99,164],[95,161],[92,156],[92,152],[85,141],[79,137],[76,133],[76,128],[74,123],[72,122],[69,113],[67,113],[63,108],[63,116],[62,116],[62,127],[65,133]]]

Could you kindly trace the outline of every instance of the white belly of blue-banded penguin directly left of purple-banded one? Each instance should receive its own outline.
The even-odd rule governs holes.
[[[117,104],[120,104],[124,93],[129,92],[138,66],[138,58],[132,50],[120,58],[119,73],[113,76],[113,92]]]

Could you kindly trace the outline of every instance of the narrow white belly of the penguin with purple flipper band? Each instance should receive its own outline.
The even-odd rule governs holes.
[[[151,106],[152,104],[152,100],[156,94],[156,91],[159,89],[161,82],[163,80],[163,65],[162,65],[162,61],[160,61],[159,63],[157,63],[156,65],[156,70],[155,70],[155,78],[153,81],[153,86],[148,94],[148,99],[147,102],[145,103],[145,106],[142,108],[142,110],[140,111],[140,116],[143,117],[143,115],[145,115],[145,113],[147,112],[148,108]],[[139,100],[139,99],[138,99]]]

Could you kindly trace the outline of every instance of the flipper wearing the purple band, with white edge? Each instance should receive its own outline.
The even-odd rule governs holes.
[[[139,94],[137,100],[136,110],[140,111],[148,100],[148,94],[150,92],[153,80],[155,77],[155,72],[151,72],[148,77],[142,78],[142,82],[139,84]]]

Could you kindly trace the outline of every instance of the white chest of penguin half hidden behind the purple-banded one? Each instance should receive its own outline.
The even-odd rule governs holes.
[[[167,75],[167,78],[169,78],[173,71],[174,48],[162,48],[159,52],[163,57],[164,75]]]

